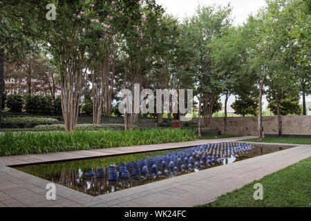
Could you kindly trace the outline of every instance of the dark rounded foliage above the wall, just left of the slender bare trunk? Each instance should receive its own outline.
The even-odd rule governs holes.
[[[258,100],[252,96],[241,96],[232,103],[231,107],[238,115],[258,115]]]

